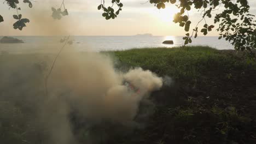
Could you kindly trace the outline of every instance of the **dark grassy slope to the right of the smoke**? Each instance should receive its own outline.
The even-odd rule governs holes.
[[[114,55],[119,67],[142,67],[174,79],[173,86],[152,94],[156,111],[136,142],[256,142],[256,65],[245,55],[201,46]]]

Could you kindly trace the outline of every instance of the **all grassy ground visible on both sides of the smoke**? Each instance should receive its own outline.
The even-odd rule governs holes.
[[[173,85],[164,86],[151,94],[155,109],[143,128],[126,133],[126,128],[105,125],[107,138],[104,143],[256,143],[256,62],[243,53],[236,55],[232,50],[220,51],[205,46],[104,53],[117,60],[117,69],[141,67],[173,79]],[[11,55],[6,57],[9,60],[0,57],[2,66],[9,67],[7,63],[15,63],[10,61]],[[21,72],[22,69],[27,70],[33,80],[40,80],[42,74],[39,74],[37,65],[34,69],[22,66],[33,63],[27,57],[36,59],[37,56],[15,56],[20,63],[18,69]],[[0,67],[0,70],[4,75],[4,69]],[[19,73],[12,76],[16,79]],[[25,97],[16,104],[7,100],[28,94],[27,89],[37,89],[37,93],[40,95],[42,92],[43,95],[43,89],[37,88],[40,86],[34,85],[33,80],[29,85],[31,87],[21,87],[19,92],[18,89],[17,92],[0,91],[0,143],[42,143],[46,136],[44,131],[35,132],[38,124],[24,124],[36,113],[30,110],[34,104],[24,104],[24,99],[40,101],[39,97]],[[15,85],[18,84],[11,83],[11,86]],[[4,88],[3,83],[0,86]],[[83,143],[88,129],[85,125],[79,127],[84,132],[79,133],[77,138]],[[102,127],[96,125],[92,129],[96,131],[92,133],[96,133],[100,143],[97,131]]]

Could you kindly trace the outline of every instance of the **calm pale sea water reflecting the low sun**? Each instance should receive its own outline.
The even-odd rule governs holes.
[[[1,39],[2,37],[0,37]],[[56,52],[60,49],[60,39],[62,37],[15,37],[23,40],[24,44],[0,44],[0,52],[9,53],[41,53]],[[141,49],[144,47],[174,47],[182,46],[184,40],[182,37],[162,37],[162,36],[72,36],[74,40],[72,46],[67,49],[75,51],[112,51]],[[162,44],[164,40],[173,40],[173,45]],[[189,45],[211,46],[219,50],[233,49],[233,46],[225,40],[218,40],[218,37],[197,37]]]

